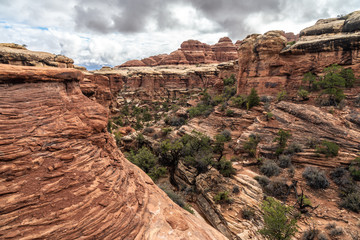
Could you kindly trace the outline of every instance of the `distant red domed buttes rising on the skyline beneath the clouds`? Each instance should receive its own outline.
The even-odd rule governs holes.
[[[130,60],[116,68],[142,67],[158,65],[181,65],[181,64],[208,64],[221,63],[238,58],[236,46],[228,37],[220,38],[214,45],[208,45],[197,40],[187,40],[181,47],[170,53],[152,56],[142,60]]]

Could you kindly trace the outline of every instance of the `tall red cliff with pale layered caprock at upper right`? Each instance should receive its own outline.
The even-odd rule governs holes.
[[[360,72],[360,11],[342,18],[319,20],[301,31],[300,39],[286,45],[282,31],[250,35],[239,45],[238,93],[256,87],[260,94],[285,88],[296,91],[303,75],[318,74],[339,64]]]

